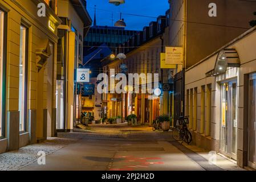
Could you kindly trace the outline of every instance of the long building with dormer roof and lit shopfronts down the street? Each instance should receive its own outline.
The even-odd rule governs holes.
[[[127,59],[116,59],[103,67],[103,72],[111,77],[110,69],[115,69],[115,75],[121,72],[120,65],[127,66],[127,73],[145,74],[159,73],[159,81],[168,83],[168,73],[172,70],[160,68],[160,53],[165,52],[165,46],[169,45],[169,11],[166,15],[159,16],[156,22],[149,23],[143,31],[137,32],[127,42],[121,45],[119,52],[125,53]],[[152,83],[155,81],[152,80]],[[141,80],[139,83],[141,87]],[[134,86],[134,85],[133,85]],[[125,94],[104,94],[104,110],[107,110],[107,117],[127,117],[129,114],[136,114],[141,124],[152,124],[160,114],[171,115],[172,111],[168,105],[172,104],[172,94],[164,92],[160,96],[152,94],[125,93]]]

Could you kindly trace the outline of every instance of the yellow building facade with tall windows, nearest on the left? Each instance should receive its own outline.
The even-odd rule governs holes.
[[[55,136],[56,2],[0,2],[0,152]]]

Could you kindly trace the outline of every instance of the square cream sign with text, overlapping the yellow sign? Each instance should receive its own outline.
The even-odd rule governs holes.
[[[165,47],[165,64],[183,65],[182,47]]]

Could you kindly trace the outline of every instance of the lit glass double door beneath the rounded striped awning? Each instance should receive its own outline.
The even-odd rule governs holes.
[[[221,84],[220,151],[237,159],[237,81]]]

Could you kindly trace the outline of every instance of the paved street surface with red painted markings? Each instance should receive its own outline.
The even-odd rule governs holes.
[[[62,144],[62,147],[56,148],[46,156],[46,165],[39,165],[34,160],[30,164],[23,164],[25,167],[21,164],[18,169],[65,171],[243,170],[220,155],[217,155],[216,165],[210,165],[208,152],[176,142],[170,131],[152,131],[151,127],[146,126],[98,125],[92,126],[91,131],[87,131],[87,133],[59,133],[59,138],[50,140],[52,140],[51,143],[54,143],[54,140],[59,140],[53,146]],[[32,146],[27,147],[32,148]],[[24,150],[25,148],[20,149],[21,152],[23,151],[23,155],[29,153],[29,150]],[[38,146],[37,148],[40,150]],[[45,148],[47,150],[47,147]],[[9,154],[12,157],[9,159],[9,163],[3,166],[4,168],[11,169],[13,167],[10,165],[10,160],[19,161],[18,158],[21,156],[17,156],[15,159],[15,155],[17,153]]]

